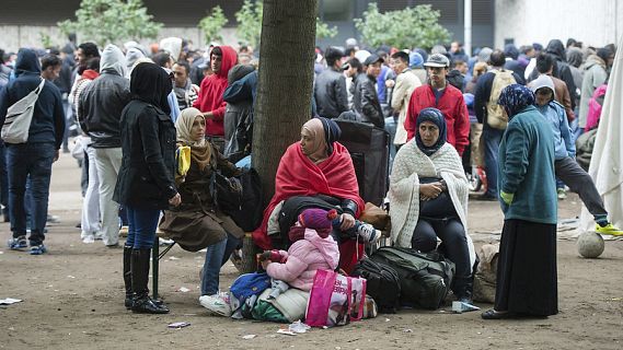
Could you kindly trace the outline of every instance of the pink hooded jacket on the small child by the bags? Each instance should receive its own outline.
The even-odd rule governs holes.
[[[288,260],[268,264],[266,272],[303,291],[311,290],[316,270],[335,270],[339,262],[339,249],[333,237],[322,238],[312,229],[305,229],[304,240],[295,242],[288,252],[279,250],[279,254]]]

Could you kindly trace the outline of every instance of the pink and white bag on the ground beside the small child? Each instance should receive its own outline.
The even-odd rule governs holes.
[[[365,304],[366,279],[318,270],[305,311],[305,324],[312,327],[344,326],[364,318]]]

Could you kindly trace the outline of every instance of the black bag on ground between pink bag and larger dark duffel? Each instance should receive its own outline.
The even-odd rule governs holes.
[[[366,293],[377,302],[380,313],[395,314],[400,308],[401,281],[391,266],[366,258],[357,262],[351,276],[368,281]]]

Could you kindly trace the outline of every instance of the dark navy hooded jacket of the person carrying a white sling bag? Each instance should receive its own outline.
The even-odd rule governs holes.
[[[0,90],[0,125],[4,124],[8,108],[37,89],[42,81],[39,60],[35,51],[20,49],[15,77],[15,80]],[[54,83],[46,81],[35,103],[27,143],[54,143],[58,150],[64,132],[65,112],[60,91]]]

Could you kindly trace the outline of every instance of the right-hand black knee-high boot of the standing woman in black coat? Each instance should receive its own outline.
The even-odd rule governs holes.
[[[169,308],[158,305],[149,298],[149,258],[151,248],[132,249],[131,255],[131,279],[132,279],[132,305],[134,313],[141,314],[166,314]]]

